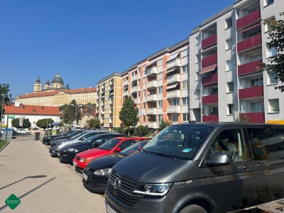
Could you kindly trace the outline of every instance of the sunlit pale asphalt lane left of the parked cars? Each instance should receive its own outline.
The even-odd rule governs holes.
[[[104,196],[86,190],[82,175],[50,157],[34,133],[9,141],[0,152],[0,212],[105,212]],[[21,200],[13,210],[12,194]]]

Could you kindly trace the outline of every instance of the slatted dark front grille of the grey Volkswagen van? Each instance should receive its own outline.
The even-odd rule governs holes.
[[[116,181],[116,178],[119,178],[121,182],[119,187],[115,189],[114,182]],[[109,175],[109,182],[107,185],[108,192],[124,204],[133,206],[136,202],[138,202],[139,198],[143,197],[143,195],[133,193],[135,187],[135,182],[121,178],[119,175],[114,174],[114,172],[111,172],[111,175]]]

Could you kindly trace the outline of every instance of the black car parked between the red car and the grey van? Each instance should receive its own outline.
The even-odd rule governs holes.
[[[104,193],[104,190],[107,188],[109,173],[114,164],[128,155],[140,151],[146,143],[148,143],[148,140],[135,143],[120,153],[106,155],[102,158],[92,160],[88,163],[87,167],[84,168],[82,173],[84,187],[92,192]]]

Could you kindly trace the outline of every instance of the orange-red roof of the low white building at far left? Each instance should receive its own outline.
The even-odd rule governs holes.
[[[59,116],[59,107],[43,107],[23,105],[15,107],[15,104],[4,105],[5,114],[31,114],[31,115],[50,115]]]

